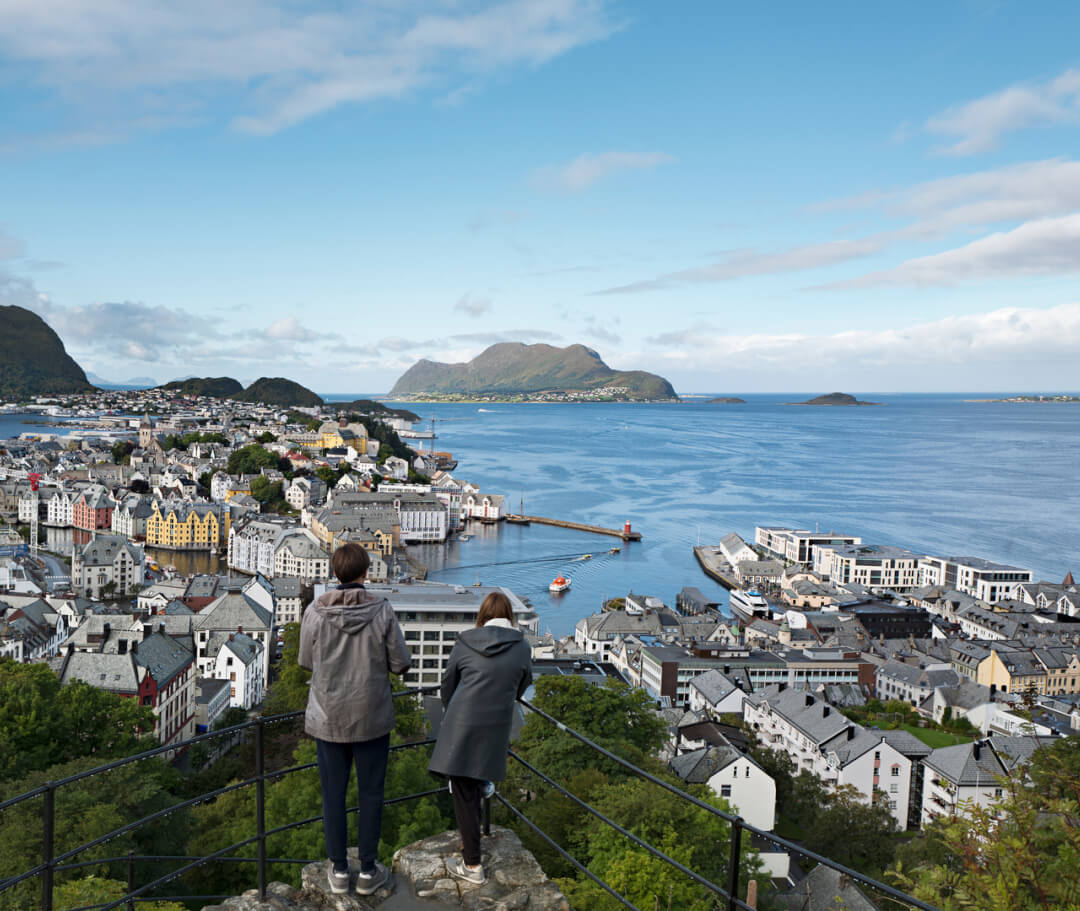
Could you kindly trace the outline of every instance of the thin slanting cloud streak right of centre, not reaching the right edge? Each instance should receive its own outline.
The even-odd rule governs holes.
[[[725,259],[711,266],[696,269],[683,269],[678,272],[666,272],[656,278],[632,282],[594,291],[596,295],[636,294],[638,291],[656,291],[678,285],[700,285],[712,282],[730,282],[751,275],[770,275],[778,272],[801,272],[819,269],[823,266],[835,266],[852,259],[873,256],[883,248],[879,239],[868,237],[859,241],[825,241],[821,244],[789,247],[788,249],[761,253],[756,249],[732,250]]]

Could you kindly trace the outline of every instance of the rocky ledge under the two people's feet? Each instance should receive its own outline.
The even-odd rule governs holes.
[[[492,827],[482,847],[487,882],[481,886],[447,872],[446,861],[459,855],[461,843],[457,832],[443,832],[399,851],[390,886],[375,895],[334,895],[322,861],[303,868],[299,889],[271,883],[265,901],[251,889],[202,911],[436,911],[447,906],[467,911],[569,911],[566,898],[512,831]],[[357,869],[355,849],[349,862]]]

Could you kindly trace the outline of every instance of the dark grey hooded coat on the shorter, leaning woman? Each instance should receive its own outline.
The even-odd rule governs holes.
[[[446,713],[431,772],[501,781],[515,702],[532,682],[532,658],[519,629],[484,626],[458,637],[443,675]]]

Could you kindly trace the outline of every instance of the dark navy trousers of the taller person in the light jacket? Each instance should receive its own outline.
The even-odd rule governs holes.
[[[334,744],[315,738],[319,751],[319,781],[323,788],[323,832],[326,835],[326,855],[339,869],[347,862],[346,791],[349,788],[350,766],[356,766],[356,788],[362,873],[375,871],[379,851],[379,832],[382,829],[382,790],[387,783],[387,758],[390,754],[390,735],[355,744]]]

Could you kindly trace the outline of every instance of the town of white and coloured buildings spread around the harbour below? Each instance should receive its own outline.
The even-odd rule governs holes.
[[[556,638],[509,588],[424,581],[408,546],[498,522],[505,498],[441,467],[453,457],[426,452],[434,434],[408,417],[161,391],[102,393],[80,410],[93,430],[2,445],[0,656],[138,698],[162,746],[259,710],[286,628],[347,542],[368,550],[370,587],[405,633],[407,685],[438,683],[499,587],[539,672],[645,692],[669,731],[659,758],[764,831],[783,820],[761,749],[917,832],[993,806],[1041,746],[1080,731],[1071,574],[758,527],[753,543],[730,533],[694,548],[731,589],[730,613],[686,580],[671,597],[610,599]],[[192,553],[218,568],[167,562]],[[760,857],[785,881],[786,853]]]

